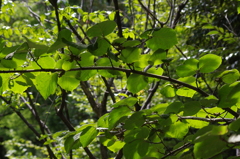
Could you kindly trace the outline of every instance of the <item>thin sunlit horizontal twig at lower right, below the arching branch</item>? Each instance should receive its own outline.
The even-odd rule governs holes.
[[[191,120],[201,120],[206,122],[227,122],[227,123],[231,123],[235,121],[235,119],[231,119],[231,118],[201,118],[201,117],[194,117],[194,116],[179,116],[178,119],[179,120],[191,119]]]

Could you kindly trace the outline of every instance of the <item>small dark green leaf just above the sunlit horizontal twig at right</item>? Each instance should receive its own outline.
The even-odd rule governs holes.
[[[184,103],[183,115],[190,116],[196,114],[201,109],[201,105],[197,101]]]

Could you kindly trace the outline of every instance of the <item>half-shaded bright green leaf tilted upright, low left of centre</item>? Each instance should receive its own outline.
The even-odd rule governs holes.
[[[87,147],[97,136],[98,131],[93,126],[88,126],[80,134],[80,142],[83,147]]]

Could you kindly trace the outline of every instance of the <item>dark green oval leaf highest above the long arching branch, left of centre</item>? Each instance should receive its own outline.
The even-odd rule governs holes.
[[[106,36],[112,33],[116,26],[116,23],[111,20],[97,23],[96,25],[88,29],[87,35],[89,37]]]

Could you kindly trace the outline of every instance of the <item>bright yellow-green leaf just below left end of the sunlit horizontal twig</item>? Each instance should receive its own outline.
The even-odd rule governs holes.
[[[183,122],[174,122],[170,125],[166,135],[171,138],[181,139],[188,133],[188,124]]]

